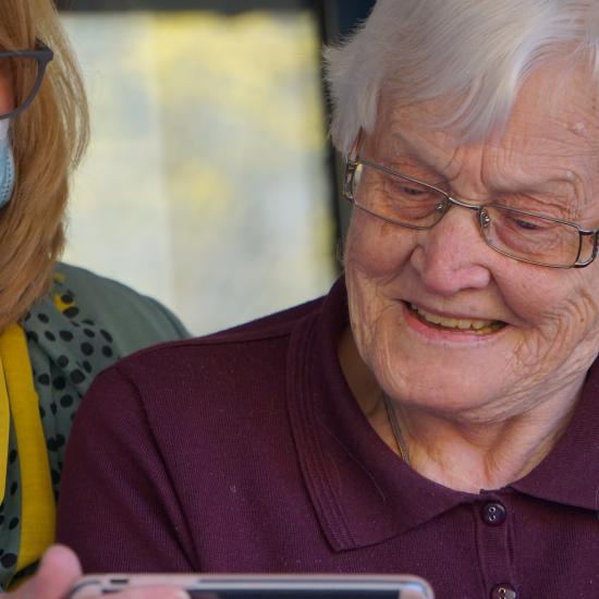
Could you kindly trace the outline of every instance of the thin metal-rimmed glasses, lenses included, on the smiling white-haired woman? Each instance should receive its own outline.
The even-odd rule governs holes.
[[[347,160],[344,196],[391,224],[432,229],[452,206],[475,210],[486,244],[515,260],[551,268],[583,268],[597,256],[599,229],[501,204],[474,205],[362,158]]]

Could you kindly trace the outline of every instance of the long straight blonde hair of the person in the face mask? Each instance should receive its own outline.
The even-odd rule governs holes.
[[[36,39],[54,60],[33,103],[12,123],[16,184],[0,211],[0,331],[49,288],[64,244],[69,178],[89,131],[83,82],[51,0],[1,0],[0,46],[33,49]]]

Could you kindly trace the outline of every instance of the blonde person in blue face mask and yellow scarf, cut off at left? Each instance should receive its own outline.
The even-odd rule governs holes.
[[[0,590],[29,574],[52,542],[65,440],[94,376],[119,356],[185,335],[155,301],[57,264],[69,176],[86,140],[85,95],[52,2],[2,0]],[[64,580],[77,575],[73,557],[53,551],[40,596],[51,599],[62,565]]]

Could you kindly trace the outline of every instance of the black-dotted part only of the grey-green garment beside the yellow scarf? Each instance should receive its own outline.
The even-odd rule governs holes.
[[[76,294],[54,282],[52,296],[23,319],[39,396],[50,474],[58,499],[66,439],[78,404],[94,377],[118,356],[113,337],[76,303]],[[12,423],[11,423],[12,426]],[[0,586],[15,572],[21,535],[21,485],[14,432],[9,438],[7,492],[0,505]]]

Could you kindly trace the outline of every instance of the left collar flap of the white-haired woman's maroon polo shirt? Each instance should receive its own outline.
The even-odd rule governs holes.
[[[296,327],[288,357],[288,405],[300,464],[335,550],[381,542],[469,497],[412,470],[371,428],[337,356],[346,326],[346,292],[340,279],[320,313]]]

